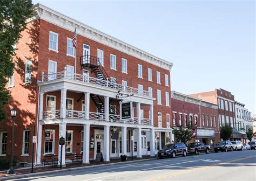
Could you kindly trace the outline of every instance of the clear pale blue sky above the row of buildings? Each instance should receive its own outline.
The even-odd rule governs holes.
[[[254,1],[38,2],[173,62],[172,90],[223,88],[256,113]]]

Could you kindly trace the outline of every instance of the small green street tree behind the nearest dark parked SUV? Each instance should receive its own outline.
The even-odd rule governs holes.
[[[177,142],[186,143],[187,141],[190,141],[193,137],[193,134],[192,134],[193,127],[190,125],[188,125],[186,128],[183,128],[182,126],[178,126],[177,129],[174,129],[174,128],[172,129]]]

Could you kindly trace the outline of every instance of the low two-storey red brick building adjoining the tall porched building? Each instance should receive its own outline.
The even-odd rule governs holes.
[[[210,145],[220,140],[217,105],[176,91],[171,99],[174,128],[190,124],[197,126],[198,140]]]

